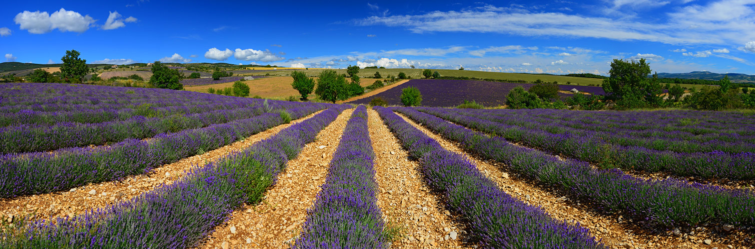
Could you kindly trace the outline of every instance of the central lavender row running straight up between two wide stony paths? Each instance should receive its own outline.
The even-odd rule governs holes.
[[[344,129],[325,184],[307,211],[296,248],[387,247],[373,159],[367,109],[359,105]]]

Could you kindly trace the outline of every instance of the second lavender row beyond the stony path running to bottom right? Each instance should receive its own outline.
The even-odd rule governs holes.
[[[646,147],[610,144],[597,135],[553,134],[545,128],[511,126],[479,116],[441,108],[417,108],[482,132],[500,135],[553,153],[562,153],[593,162],[602,168],[638,169],[646,172],[669,172],[701,178],[755,178],[755,153],[720,151],[676,153]]]

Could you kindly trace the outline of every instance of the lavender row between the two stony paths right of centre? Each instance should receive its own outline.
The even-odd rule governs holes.
[[[419,160],[428,184],[445,193],[448,204],[469,220],[470,234],[485,247],[605,248],[587,229],[555,220],[540,208],[504,193],[469,159],[445,150],[390,109],[374,109]]]

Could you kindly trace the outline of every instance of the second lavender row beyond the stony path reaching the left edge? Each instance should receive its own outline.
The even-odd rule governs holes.
[[[125,139],[152,138],[169,132],[196,129],[233,120],[248,119],[266,112],[302,106],[292,102],[271,102],[248,108],[222,109],[204,113],[160,117],[135,116],[128,120],[103,123],[56,123],[46,125],[20,125],[0,128],[0,153],[29,153],[58,150],[66,147],[83,147],[117,143]]]

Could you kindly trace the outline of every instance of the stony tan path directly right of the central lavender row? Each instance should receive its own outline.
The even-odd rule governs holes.
[[[439,205],[422,180],[419,164],[408,159],[398,139],[376,111],[368,109],[368,129],[375,153],[377,205],[383,219],[402,227],[403,238],[391,248],[457,248],[464,236],[451,214]],[[456,236],[451,239],[451,232]]]

